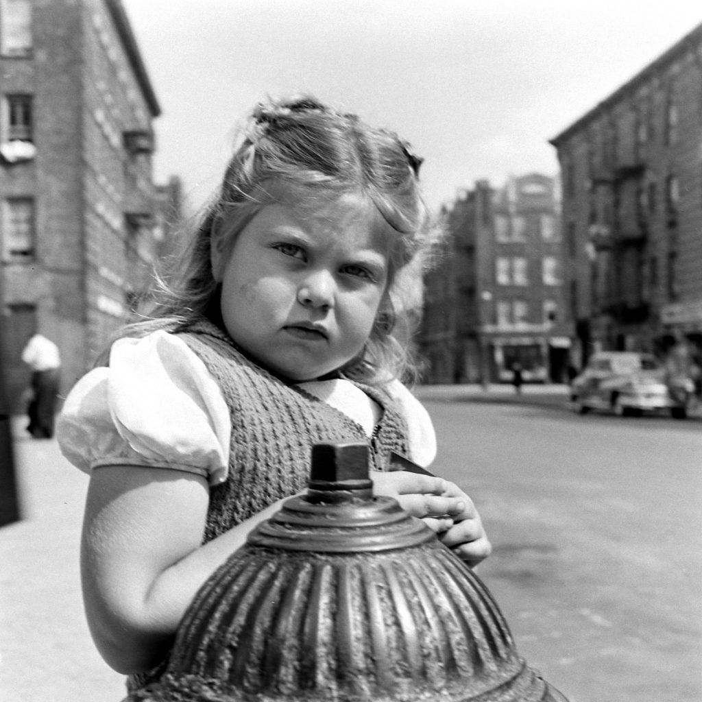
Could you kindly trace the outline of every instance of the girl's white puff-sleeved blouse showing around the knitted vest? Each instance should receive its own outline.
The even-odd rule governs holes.
[[[370,433],[378,416],[373,401],[348,380],[324,383],[300,385]],[[429,465],[436,439],[427,411],[401,383],[388,390],[409,425],[410,458]],[[166,331],[117,340],[110,366],[93,369],[69,392],[56,433],[64,456],[84,472],[143,465],[196,473],[210,484],[227,477],[231,421],[225,399],[201,359]]]

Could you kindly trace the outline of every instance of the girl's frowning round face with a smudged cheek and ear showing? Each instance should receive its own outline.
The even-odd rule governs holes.
[[[298,382],[355,357],[388,286],[388,237],[378,219],[356,194],[314,212],[271,204],[234,244],[215,244],[222,317],[241,349]]]

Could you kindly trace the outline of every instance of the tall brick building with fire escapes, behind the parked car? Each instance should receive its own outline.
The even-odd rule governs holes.
[[[702,352],[702,25],[551,143],[578,358]]]

